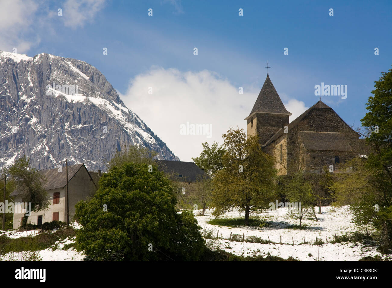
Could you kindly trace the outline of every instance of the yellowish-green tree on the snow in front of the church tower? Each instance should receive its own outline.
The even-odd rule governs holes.
[[[261,150],[258,137],[247,138],[243,129],[230,129],[222,137],[226,152],[223,168],[212,179],[213,214],[238,207],[245,211],[245,225],[249,225],[249,213],[267,210],[276,199],[274,160]]]

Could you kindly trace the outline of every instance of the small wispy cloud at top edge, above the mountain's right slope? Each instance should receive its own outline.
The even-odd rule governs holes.
[[[76,29],[92,21],[105,4],[105,0],[67,0],[63,4],[62,20],[66,27]],[[62,8],[62,7],[59,7]]]

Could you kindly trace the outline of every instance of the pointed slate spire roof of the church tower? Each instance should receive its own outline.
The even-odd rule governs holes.
[[[291,115],[291,113],[286,110],[285,105],[283,105],[283,102],[280,99],[278,92],[276,92],[268,73],[259,96],[253,105],[253,109],[245,120],[247,120],[255,112]]]

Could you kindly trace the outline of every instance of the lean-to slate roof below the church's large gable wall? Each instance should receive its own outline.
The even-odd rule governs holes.
[[[343,133],[299,131],[307,150],[350,151],[351,147]]]

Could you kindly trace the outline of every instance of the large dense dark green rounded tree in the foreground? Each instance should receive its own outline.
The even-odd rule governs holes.
[[[123,163],[103,174],[90,201],[76,205],[76,243],[94,260],[199,260],[205,242],[191,212],[178,214],[162,172]]]

